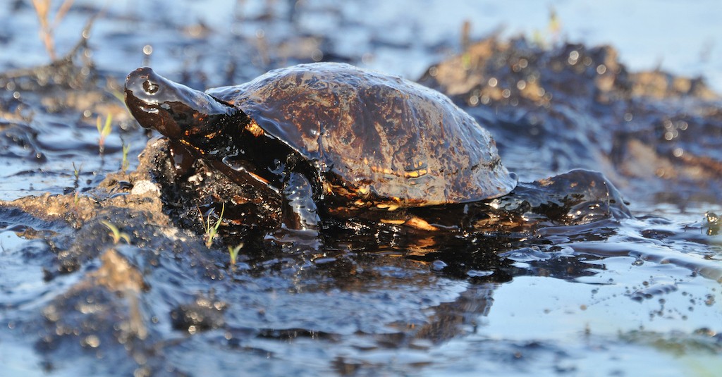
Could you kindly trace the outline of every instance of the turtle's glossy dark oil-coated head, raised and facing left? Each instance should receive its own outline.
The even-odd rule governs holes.
[[[126,105],[131,114],[147,129],[155,129],[169,139],[194,147],[220,131],[219,126],[238,112],[204,92],[156,74],[143,67],[126,78]]]

